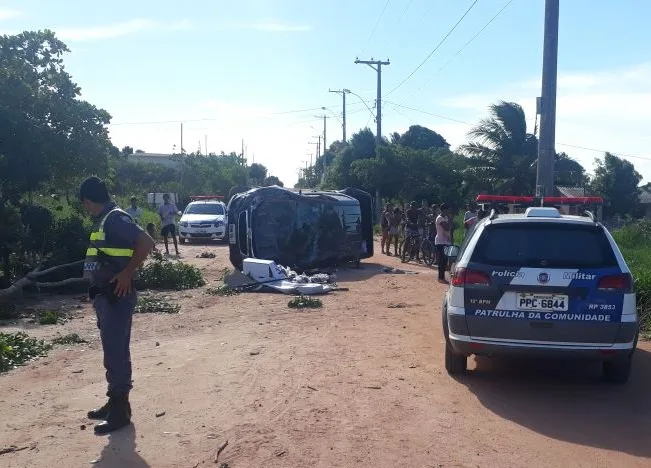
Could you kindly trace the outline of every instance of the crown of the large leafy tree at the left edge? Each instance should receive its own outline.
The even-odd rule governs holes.
[[[49,30],[0,36],[2,202],[48,180],[69,188],[107,169],[111,117],[79,99],[81,90],[63,66],[66,52]]]

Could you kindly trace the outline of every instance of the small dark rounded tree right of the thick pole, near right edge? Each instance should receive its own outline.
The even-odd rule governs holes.
[[[638,184],[641,180],[633,164],[606,153],[603,161],[595,160],[590,188],[603,197],[604,216],[636,216],[640,207]]]

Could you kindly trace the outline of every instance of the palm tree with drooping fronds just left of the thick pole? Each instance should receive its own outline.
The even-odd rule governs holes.
[[[490,117],[468,132],[472,140],[459,148],[470,157],[466,176],[478,189],[531,195],[535,189],[538,140],[527,133],[524,111],[515,102],[489,107]]]

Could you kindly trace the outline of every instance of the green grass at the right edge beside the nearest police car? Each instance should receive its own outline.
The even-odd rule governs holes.
[[[633,274],[642,336],[651,339],[651,221],[625,226],[613,237]]]

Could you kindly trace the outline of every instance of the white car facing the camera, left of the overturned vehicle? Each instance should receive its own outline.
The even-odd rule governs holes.
[[[226,238],[226,205],[217,200],[193,201],[179,220],[179,239],[224,240]]]

